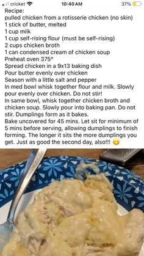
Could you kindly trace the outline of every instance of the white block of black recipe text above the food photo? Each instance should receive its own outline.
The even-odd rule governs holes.
[[[1,5],[2,147],[143,147],[143,7],[96,3]]]

